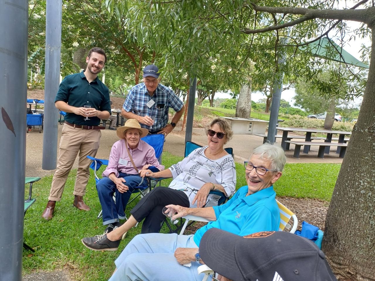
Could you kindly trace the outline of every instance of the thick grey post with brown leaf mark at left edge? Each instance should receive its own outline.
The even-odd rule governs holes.
[[[28,1],[0,0],[0,279],[22,280]]]

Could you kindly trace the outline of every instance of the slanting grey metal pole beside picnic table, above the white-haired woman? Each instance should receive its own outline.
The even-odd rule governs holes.
[[[287,40],[285,38],[280,39],[280,45],[285,45],[286,43],[287,43]],[[278,60],[279,66],[282,66],[282,64],[285,63],[285,59],[286,59],[285,52],[281,51],[281,56],[279,57],[279,60]],[[275,142],[276,124],[278,123],[283,79],[284,79],[284,72],[276,73],[275,83],[273,86],[273,94],[272,94],[270,122],[268,123],[268,133],[267,133],[267,142],[270,142],[270,143]]]

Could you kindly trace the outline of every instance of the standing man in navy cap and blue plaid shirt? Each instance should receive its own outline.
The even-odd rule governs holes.
[[[160,84],[159,69],[150,64],[143,69],[143,83],[130,89],[121,110],[127,119],[135,119],[151,134],[168,135],[184,112],[184,104],[172,89]],[[169,107],[176,114],[168,124]]]

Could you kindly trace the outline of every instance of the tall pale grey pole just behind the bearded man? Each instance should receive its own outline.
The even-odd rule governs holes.
[[[47,0],[42,169],[54,170],[57,162],[58,109],[55,97],[60,82],[62,0]]]

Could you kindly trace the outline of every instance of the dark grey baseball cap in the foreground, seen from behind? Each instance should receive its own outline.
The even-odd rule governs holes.
[[[217,228],[199,243],[203,262],[233,281],[336,281],[324,253],[310,240],[289,232],[239,236]]]

